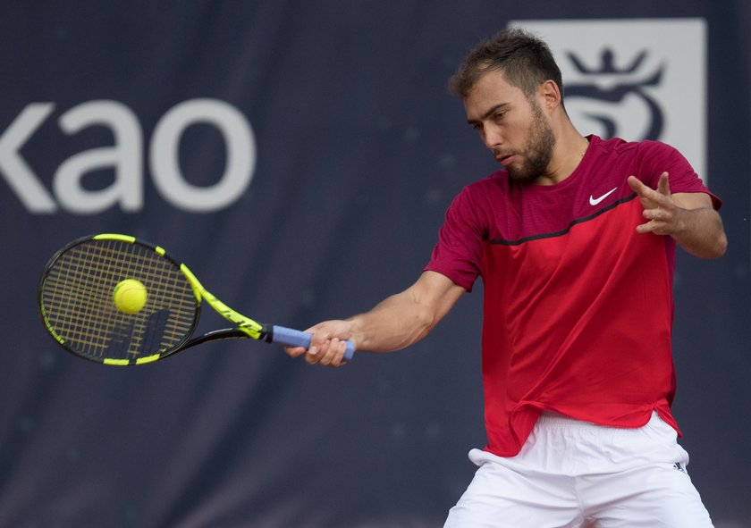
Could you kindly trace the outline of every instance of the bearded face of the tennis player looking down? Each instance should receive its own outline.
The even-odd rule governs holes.
[[[501,71],[488,71],[464,99],[467,121],[513,180],[531,183],[553,157],[555,136],[536,99],[527,99]]]

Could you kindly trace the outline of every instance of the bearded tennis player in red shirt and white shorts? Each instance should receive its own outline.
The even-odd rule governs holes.
[[[720,200],[671,147],[579,134],[524,31],[478,45],[451,89],[504,170],[454,199],[415,284],[288,353],[409,347],[482,276],[488,444],[446,526],[712,526],[671,415],[671,285],[676,244],[724,253]]]

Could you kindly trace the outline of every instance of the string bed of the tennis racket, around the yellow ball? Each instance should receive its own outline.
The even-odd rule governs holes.
[[[135,279],[147,303],[135,314],[114,306],[114,288]],[[151,247],[120,239],[90,239],[69,247],[49,266],[41,289],[45,322],[73,352],[93,359],[164,355],[190,336],[198,305],[190,282]]]

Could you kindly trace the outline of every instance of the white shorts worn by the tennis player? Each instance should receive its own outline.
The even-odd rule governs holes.
[[[711,528],[676,440],[656,413],[638,429],[544,414],[516,457],[469,452],[444,528]]]

